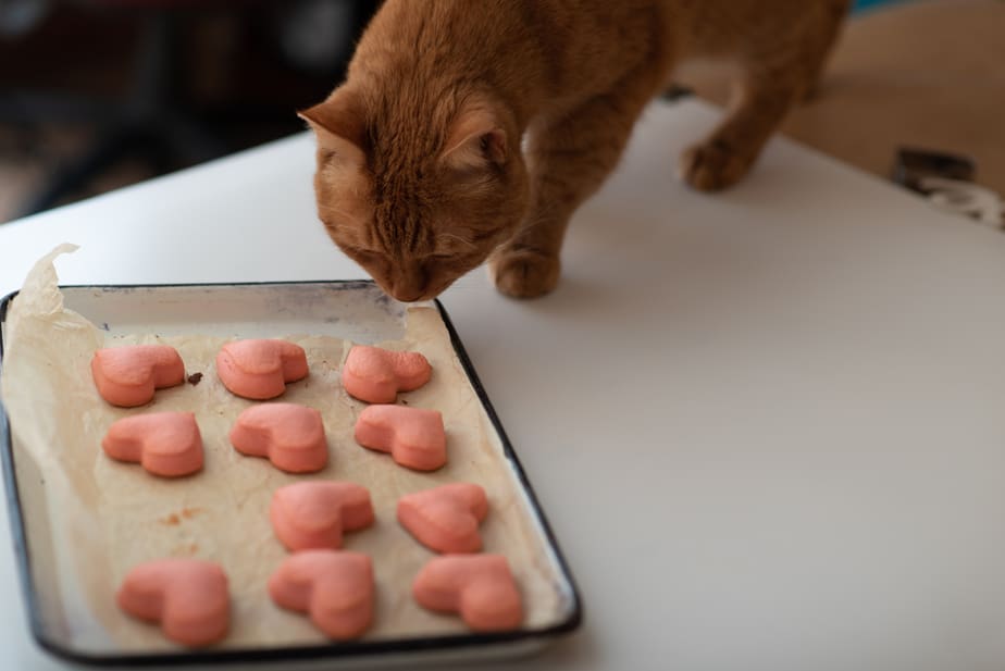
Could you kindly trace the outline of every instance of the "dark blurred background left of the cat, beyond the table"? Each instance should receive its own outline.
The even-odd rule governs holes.
[[[0,0],[0,222],[303,129],[380,0]]]

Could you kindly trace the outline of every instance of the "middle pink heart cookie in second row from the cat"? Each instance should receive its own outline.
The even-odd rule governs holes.
[[[265,457],[287,473],[313,473],[328,462],[321,413],[296,403],[261,403],[241,412],[231,444],[243,455]]]

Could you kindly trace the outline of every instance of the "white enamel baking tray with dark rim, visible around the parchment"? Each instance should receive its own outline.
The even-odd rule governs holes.
[[[142,286],[62,286],[65,307],[109,333],[225,333],[236,337],[278,337],[283,333],[319,332],[357,343],[386,339],[388,328],[396,327],[405,306],[390,300],[370,281],[253,283],[208,285]],[[8,310],[17,294],[0,302],[0,369],[3,364],[3,335]],[[360,319],[342,319],[347,297],[358,306],[372,308]],[[32,633],[39,645],[66,660],[90,666],[166,666],[166,664],[257,664],[290,668],[324,666],[356,668],[384,663],[422,663],[448,660],[475,660],[511,657],[536,651],[556,637],[574,631],[582,619],[581,599],[569,567],[558,547],[533,488],[528,481],[485,389],[464,351],[444,306],[432,301],[449,334],[450,345],[463,368],[468,382],[480,399],[498,444],[509,464],[513,481],[522,494],[529,515],[536,525],[545,547],[545,560],[554,570],[560,595],[561,611],[546,626],[522,627],[498,633],[459,633],[448,635],[363,638],[353,642],[320,643],[281,647],[209,648],[201,650],[169,649],[152,653],[136,650],[82,649],[69,639],[60,626],[59,597],[47,593],[55,584],[48,537],[33,537],[26,520],[36,510],[40,497],[41,474],[25,471],[18,461],[11,435],[10,421],[0,403],[0,457],[7,488],[14,550]],[[26,460],[26,459],[23,459]],[[25,473],[32,476],[26,476]],[[38,534],[36,534],[38,535]]]

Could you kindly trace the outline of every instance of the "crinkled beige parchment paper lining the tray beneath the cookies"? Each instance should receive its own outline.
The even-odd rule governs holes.
[[[376,608],[368,638],[467,631],[458,618],[430,613],[412,600],[411,582],[434,554],[395,519],[402,494],[456,481],[479,483],[488,494],[491,509],[482,526],[485,551],[509,558],[524,598],[524,625],[547,626],[563,617],[568,604],[539,527],[435,309],[411,308],[406,336],[382,345],[421,351],[432,363],[432,381],[420,390],[400,395],[399,402],[443,412],[447,465],[435,473],[418,473],[398,467],[387,455],[359,447],[352,426],[365,406],[348,397],[339,381],[351,343],[288,334],[289,340],[307,351],[311,372],[278,400],[319,409],[331,450],[324,471],[288,475],[266,460],[239,455],[229,445],[227,433],[234,420],[252,401],[229,394],[215,374],[215,355],[226,338],[110,336],[96,328],[64,309],[57,286],[52,260],[73,249],[58,248],[39,261],[12,305],[4,338],[2,398],[15,458],[29,462],[24,472],[37,474],[39,481],[24,482],[18,465],[27,523],[35,532],[29,536],[46,533],[46,540],[51,542],[51,548],[36,543],[40,547],[34,548],[32,560],[57,564],[59,584],[39,589],[50,591],[48,598],[58,599],[61,624],[74,647],[173,647],[156,626],[132,620],[114,604],[115,589],[133,566],[162,557],[199,557],[223,566],[233,610],[231,633],[222,647],[325,641],[305,617],[274,606],[265,589],[269,575],[287,556],[269,523],[272,493],[282,485],[313,479],[351,481],[371,492],[375,524],[347,534],[345,542],[347,549],[365,552],[374,562]],[[153,402],[142,408],[109,406],[91,380],[91,357],[100,347],[140,343],[176,347],[187,373],[201,372],[201,382],[159,390]],[[138,464],[115,462],[103,455],[100,442],[114,420],[164,410],[196,413],[206,449],[201,473],[164,480]],[[40,492],[33,490],[37,487]],[[42,507],[47,513],[38,510]]]

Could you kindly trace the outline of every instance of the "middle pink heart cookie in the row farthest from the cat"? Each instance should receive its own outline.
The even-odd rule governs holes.
[[[373,566],[345,550],[303,550],[287,557],[269,579],[281,608],[306,612],[332,638],[356,638],[373,620]]]

